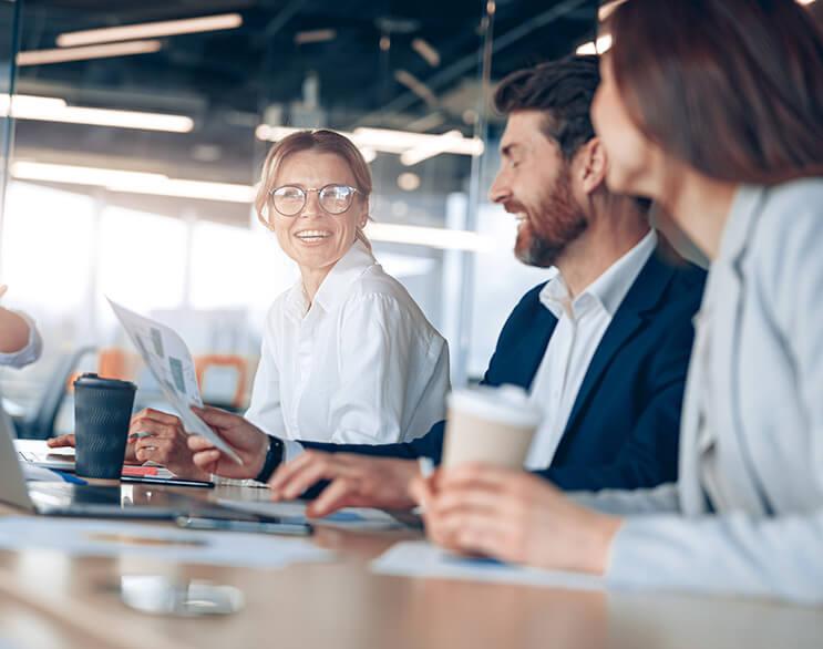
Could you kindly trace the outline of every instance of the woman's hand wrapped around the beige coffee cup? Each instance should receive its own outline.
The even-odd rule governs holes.
[[[411,491],[438,545],[542,568],[604,574],[621,524],[529,473],[483,464],[416,477]]]

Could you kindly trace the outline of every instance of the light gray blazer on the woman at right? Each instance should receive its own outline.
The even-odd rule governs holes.
[[[627,515],[616,586],[823,602],[823,178],[735,195],[689,367],[677,484]]]

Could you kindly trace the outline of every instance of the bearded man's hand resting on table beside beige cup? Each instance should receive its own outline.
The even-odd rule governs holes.
[[[330,481],[306,513],[321,517],[342,507],[410,509],[409,484],[418,475],[412,460],[367,457],[350,453],[307,451],[278,467],[269,480],[272,498],[297,498],[316,482]]]

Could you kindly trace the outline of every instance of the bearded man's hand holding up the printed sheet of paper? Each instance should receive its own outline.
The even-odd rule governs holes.
[[[269,436],[239,414],[233,414],[217,408],[193,408],[212,430],[232,446],[243,460],[243,466],[225,456],[212,442],[199,435],[189,435],[188,449],[194,453],[194,463],[202,471],[223,477],[254,478],[266,462]]]

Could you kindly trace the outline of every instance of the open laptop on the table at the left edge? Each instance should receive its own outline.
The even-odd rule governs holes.
[[[179,516],[246,518],[209,502],[163,485],[76,485],[64,482],[27,483],[14,447],[11,421],[0,405],[0,502],[32,514],[95,518],[175,519]],[[55,480],[56,480],[55,475]]]

